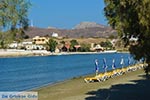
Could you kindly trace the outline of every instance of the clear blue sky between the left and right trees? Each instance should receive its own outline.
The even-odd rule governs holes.
[[[33,26],[72,29],[80,22],[107,25],[103,0],[30,0],[29,19]]]

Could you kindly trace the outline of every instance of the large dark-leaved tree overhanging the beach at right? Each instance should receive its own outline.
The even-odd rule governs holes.
[[[137,60],[145,59],[150,69],[150,0],[104,0],[108,23],[130,45],[129,51]],[[129,44],[131,37],[136,44]],[[148,72],[148,71],[147,71]]]

